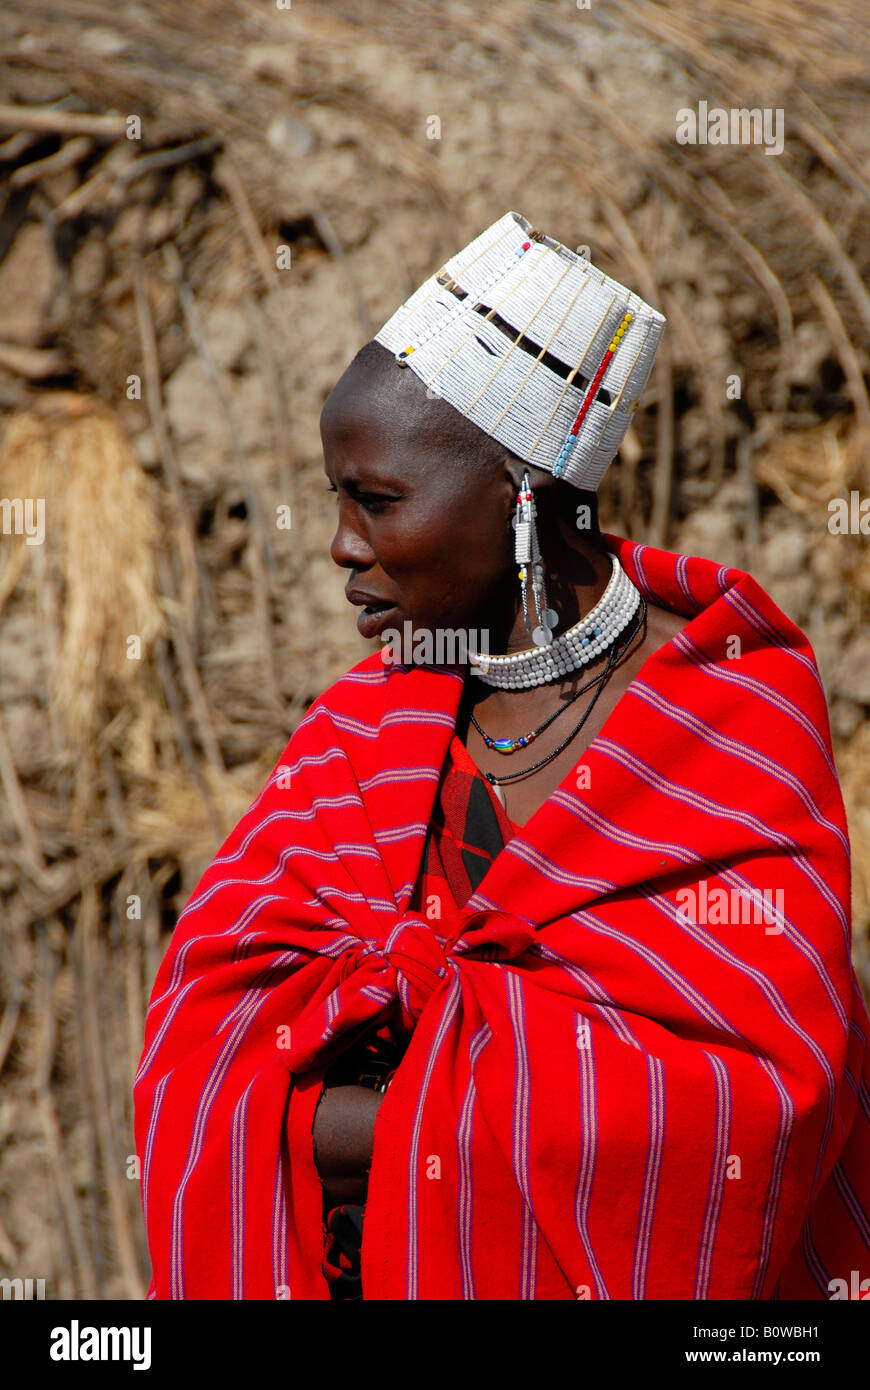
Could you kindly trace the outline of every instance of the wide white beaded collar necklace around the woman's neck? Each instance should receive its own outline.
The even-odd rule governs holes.
[[[528,652],[489,656],[468,652],[473,673],[486,685],[499,689],[527,689],[545,685],[580,666],[588,666],[613,645],[638,610],[641,595],[625,574],[616,555],[610,556],[613,574],[595,607],[574,627],[555,638],[549,646]]]

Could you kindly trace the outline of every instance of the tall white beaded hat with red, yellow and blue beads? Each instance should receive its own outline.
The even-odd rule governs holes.
[[[375,341],[524,463],[595,491],[666,318],[518,213],[488,227]]]

